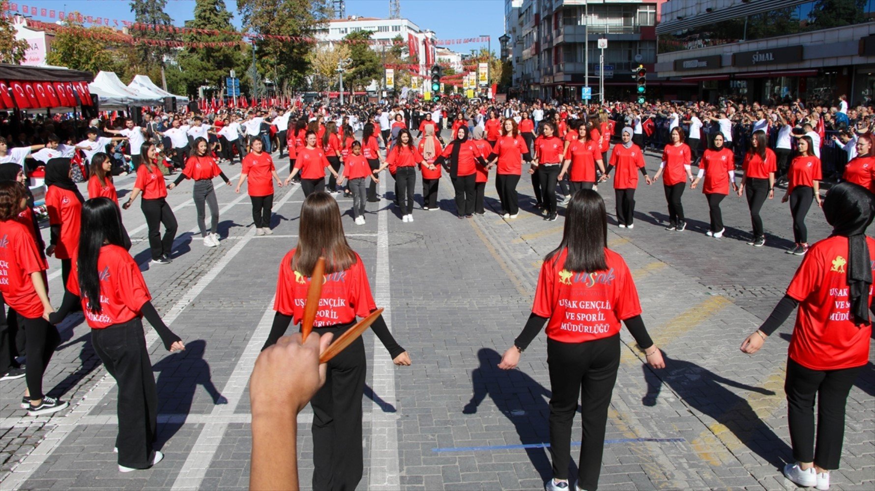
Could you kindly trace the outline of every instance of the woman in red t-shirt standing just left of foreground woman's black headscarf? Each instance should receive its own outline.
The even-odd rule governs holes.
[[[805,217],[809,214],[812,198],[821,205],[820,180],[823,178],[820,159],[814,154],[814,142],[809,135],[802,135],[796,140],[796,156],[787,171],[787,192],[781,198],[781,203],[790,202],[790,214],[793,216],[793,238],[795,245],[788,249],[788,254],[802,256],[809,250],[809,229],[805,226]]]

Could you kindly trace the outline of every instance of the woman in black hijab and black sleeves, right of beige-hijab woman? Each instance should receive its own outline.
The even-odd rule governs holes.
[[[456,190],[458,218],[473,218],[474,191],[477,183],[477,163],[486,163],[479,149],[468,141],[468,128],[459,127],[455,140],[444,148],[437,163],[450,173],[452,187]]]

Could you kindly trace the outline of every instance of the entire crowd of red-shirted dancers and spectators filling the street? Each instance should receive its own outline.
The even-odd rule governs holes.
[[[605,192],[612,185],[616,226],[630,230],[636,225],[639,184],[662,181],[668,232],[686,230],[684,191],[701,189],[710,211],[706,234],[716,239],[725,233],[721,212],[725,197],[746,197],[752,225],[747,243],[753,246],[766,243],[760,211],[779,187],[793,221],[795,244],[788,252],[806,258],[788,296],[760,330],[746,339],[742,350],[753,354],[760,349],[793,308],[800,308],[788,362],[792,365],[792,370],[788,368],[788,401],[796,461],[788,464],[785,474],[797,483],[811,482],[821,488],[826,482],[828,487],[829,470],[838,467],[840,430],[844,428],[844,411],[839,416],[837,410],[844,409],[859,367],[868,362],[868,308],[875,264],[869,258],[875,259],[875,249],[872,239],[865,238],[865,230],[872,222],[875,192],[873,118],[868,107],[849,108],[841,98],[836,107],[806,107],[802,101],[770,107],[728,102],[718,106],[670,102],[599,106],[518,100],[381,101],[346,106],[297,103],[245,114],[233,109],[210,114],[143,114],[139,124],[131,118],[17,122],[17,140],[0,138],[0,292],[9,306],[4,309],[0,331],[2,378],[26,378],[21,405],[31,416],[65,409],[66,401],[45,395],[42,378],[59,344],[53,325],[81,310],[92,328],[95,352],[119,386],[119,470],[130,472],[158,463],[163,456],[152,447],[157,394],[142,318],[156,328],[166,349],[182,350],[185,343],[151,305],[149,288],[130,256],[123,210],[141,198],[151,261],[169,264],[178,225],[166,197],[168,190],[193,180],[203,244],[220,245],[214,179],[235,186],[221,165],[239,161],[242,169],[235,191],[241,192],[246,183],[255,233],[272,233],[275,183],[280,188],[299,183],[305,197],[298,242],[281,261],[276,317],[252,378],[254,388],[269,391],[282,381],[284,389],[294,385],[299,391],[283,390],[272,397],[252,391],[253,488],[292,479],[290,474],[271,473],[280,463],[289,464],[286,459],[295,458],[296,430],[288,428],[289,442],[285,440],[288,434],[276,434],[270,428],[275,424],[287,427],[289,421],[282,424],[274,418],[288,418],[289,411],[297,414],[310,397],[316,463],[313,486],[355,488],[363,472],[357,444],[361,408],[356,402],[364,389],[363,345],[360,341],[351,345],[328,364],[327,371],[319,369],[318,363],[314,367],[312,356],[306,363],[293,363],[295,370],[310,375],[294,383],[277,370],[288,364],[278,352],[308,356],[325,348],[324,340],[319,348],[318,343],[283,336],[290,324],[302,322],[303,300],[316,259],[320,255],[328,259],[321,298],[329,300],[330,308],[319,311],[322,317],[317,316],[314,327],[317,338],[330,339],[376,309],[362,261],[346,244],[341,205],[351,204],[354,223],[364,225],[367,203],[381,200],[376,184],[388,169],[394,192],[385,198],[394,201],[402,222],[414,221],[416,174],[421,174],[422,185],[419,209],[443,209],[458,219],[471,219],[486,213],[486,184],[493,179],[499,197],[496,212],[507,220],[517,218],[523,208],[556,221],[564,207],[563,239],[544,258],[532,314],[514,346],[505,352],[500,368],[515,368],[523,350],[546,325],[554,465],[554,479],[546,487],[563,490],[570,486],[570,428],[580,391],[584,391],[592,397],[584,401],[584,433],[588,436],[577,488],[593,489],[598,486],[607,407],[619,366],[621,323],[634,335],[647,363],[656,370],[664,367],[662,352],[641,321],[634,279],[622,257],[606,247],[607,212],[599,186]],[[7,134],[10,128],[7,122],[0,131]],[[445,139],[444,130],[449,132]],[[827,131],[837,132],[835,140],[826,138]],[[841,161],[825,164],[820,158],[824,145],[840,147],[845,154]],[[661,156],[653,175],[645,160],[647,149]],[[277,173],[275,155],[289,158],[290,170],[284,179]],[[50,229],[47,246],[31,190],[24,185],[25,176],[40,167],[45,175]],[[136,179],[130,197],[120,205],[114,178],[126,172],[135,173]],[[169,177],[177,172],[178,176]],[[534,206],[523,202],[518,190],[526,174]],[[820,184],[831,176],[838,176],[841,183],[833,184],[824,197]],[[452,186],[454,206],[437,200],[445,177]],[[77,185],[83,181],[88,182],[88,199]],[[805,218],[815,203],[823,207],[834,231],[830,238],[812,245]],[[836,269],[837,255],[845,261],[841,270]],[[57,311],[47,293],[47,256],[61,264],[65,290]],[[845,269],[844,264],[849,266]],[[830,281],[818,280],[827,272],[841,274],[831,275]],[[837,297],[848,301],[834,302]],[[381,318],[373,328],[395,364],[411,363]],[[842,334],[826,346],[823,336],[828,330]],[[18,363],[21,355],[26,356],[24,368]],[[308,371],[314,368],[315,376]],[[815,439],[809,420],[813,421],[818,391],[829,394],[826,410],[833,416],[819,423],[829,428],[830,435],[822,438],[818,432]],[[255,418],[256,411],[277,404],[288,411],[265,410]],[[283,448],[283,452],[265,446]],[[297,474],[293,478],[297,480]]]

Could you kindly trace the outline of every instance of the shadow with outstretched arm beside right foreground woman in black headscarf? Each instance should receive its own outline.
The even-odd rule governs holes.
[[[648,392],[641,398],[644,405],[656,405],[662,384],[668,384],[683,402],[725,425],[739,441],[760,455],[761,459],[779,469],[783,468],[785,462],[791,461],[790,446],[757,416],[745,398],[729,391],[725,385],[767,396],[774,396],[774,391],[740,384],[696,363],[669,358],[664,351],[662,357],[666,365],[665,370],[659,370],[662,378],[654,370],[650,370],[648,365],[642,365],[644,378],[648,383]]]

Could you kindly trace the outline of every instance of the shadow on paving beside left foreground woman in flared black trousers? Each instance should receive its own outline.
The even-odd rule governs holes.
[[[165,356],[160,362],[152,365],[152,370],[157,371],[158,380],[158,414],[175,415],[182,418],[170,418],[168,422],[158,430],[158,443],[163,445],[171,439],[185,422],[185,416],[192,409],[194,393],[198,385],[213,398],[214,405],[228,404],[228,399],[219,393],[210,376],[210,365],[204,359],[207,350],[207,342],[198,339],[186,343],[184,351],[178,351]],[[180,374],[185,374],[180,377]],[[165,394],[170,397],[163,397]],[[160,445],[158,446],[160,447]]]

